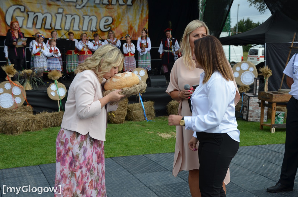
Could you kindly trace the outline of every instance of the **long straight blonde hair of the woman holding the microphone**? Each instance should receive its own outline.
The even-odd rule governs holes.
[[[183,63],[189,69],[195,67],[195,62],[193,61],[193,58],[192,58],[193,51],[190,48],[190,43],[189,43],[189,35],[195,29],[202,27],[202,26],[205,27],[206,33],[207,33],[207,35],[209,35],[209,29],[203,21],[193,20],[186,26],[183,36],[180,40],[181,47],[179,49],[179,53],[181,55],[181,52],[182,52]]]

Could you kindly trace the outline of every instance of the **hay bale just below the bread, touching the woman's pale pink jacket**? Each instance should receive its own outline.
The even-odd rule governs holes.
[[[112,124],[121,124],[125,122],[127,113],[128,98],[120,101],[116,111],[108,112],[108,122]]]

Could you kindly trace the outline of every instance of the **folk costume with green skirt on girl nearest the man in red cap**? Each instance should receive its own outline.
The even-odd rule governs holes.
[[[144,52],[142,52],[143,47],[145,47]],[[136,44],[136,50],[139,51],[138,67],[144,68],[145,70],[147,69],[148,71],[150,71],[151,70],[151,55],[150,55],[151,41],[150,41],[150,38],[146,37],[146,39],[142,39],[142,37],[139,37],[137,44]]]

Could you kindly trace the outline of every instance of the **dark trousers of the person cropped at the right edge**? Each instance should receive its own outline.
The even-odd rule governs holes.
[[[288,101],[287,110],[285,154],[278,182],[293,187],[298,168],[298,100],[293,96]]]

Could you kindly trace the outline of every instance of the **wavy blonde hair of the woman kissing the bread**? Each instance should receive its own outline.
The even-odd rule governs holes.
[[[85,62],[79,64],[75,73],[93,70],[99,81],[103,82],[103,75],[118,66],[118,72],[121,71],[123,62],[124,56],[120,49],[111,44],[105,44],[97,49],[91,57],[87,57]]]

